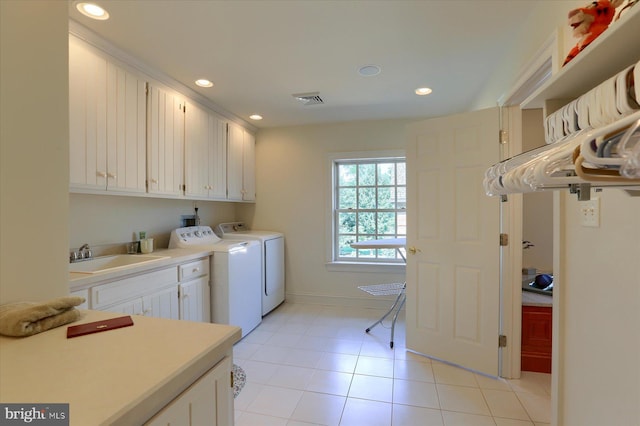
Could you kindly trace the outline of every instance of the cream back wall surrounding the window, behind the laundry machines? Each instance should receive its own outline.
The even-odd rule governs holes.
[[[328,270],[328,154],[404,149],[407,121],[360,121],[321,126],[263,129],[256,143],[255,206],[238,214],[254,229],[284,232],[286,292],[290,300],[312,303],[372,303],[356,287],[404,281],[404,273]],[[386,301],[384,301],[387,303]]]

